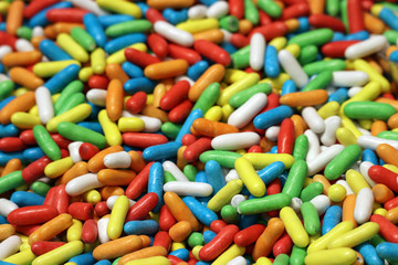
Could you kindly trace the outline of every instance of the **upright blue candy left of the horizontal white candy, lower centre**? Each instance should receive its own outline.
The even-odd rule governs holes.
[[[149,178],[148,178],[148,193],[155,192],[158,195],[158,203],[154,208],[153,212],[157,213],[160,211],[161,205],[164,204],[163,199],[163,186],[165,183],[165,171],[159,162],[153,163],[149,169]]]

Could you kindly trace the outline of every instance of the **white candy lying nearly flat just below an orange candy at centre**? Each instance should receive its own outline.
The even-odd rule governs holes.
[[[211,147],[214,150],[238,150],[249,148],[260,142],[260,136],[255,132],[235,132],[214,137]]]

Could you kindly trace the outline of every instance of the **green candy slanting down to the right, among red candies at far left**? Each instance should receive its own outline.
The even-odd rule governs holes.
[[[33,127],[33,136],[38,146],[51,160],[55,161],[61,159],[62,153],[60,147],[51,138],[50,132],[42,125],[35,125]]]

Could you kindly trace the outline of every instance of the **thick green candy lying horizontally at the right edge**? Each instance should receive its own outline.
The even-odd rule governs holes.
[[[345,105],[344,114],[354,119],[387,120],[397,110],[388,104],[377,102],[352,102]]]

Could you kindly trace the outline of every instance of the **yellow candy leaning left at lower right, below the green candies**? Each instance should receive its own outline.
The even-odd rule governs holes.
[[[310,243],[308,234],[304,230],[304,226],[294,210],[290,206],[282,208],[280,218],[293,243],[298,247],[307,246]]]

